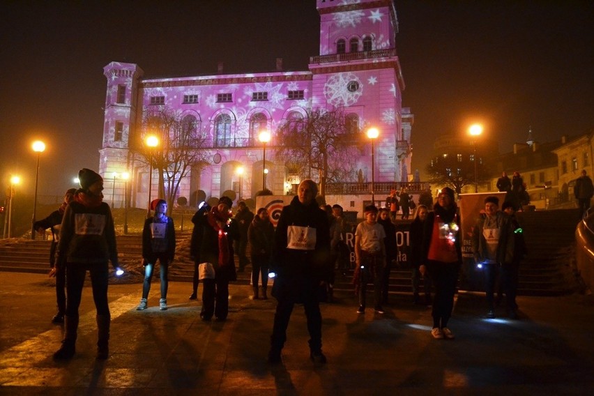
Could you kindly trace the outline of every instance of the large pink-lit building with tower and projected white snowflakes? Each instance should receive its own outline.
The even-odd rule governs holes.
[[[341,107],[360,132],[374,126],[375,181],[411,179],[411,126],[413,115],[402,108],[404,79],[396,53],[398,31],[393,0],[318,0],[319,55],[311,56],[309,70],[284,72],[277,59],[274,73],[143,78],[133,63],[112,62],[104,68],[107,99],[100,174],[106,191],[113,172],[130,172],[131,206],[146,207],[146,160],[134,153],[147,131],[142,120],[160,107],[172,109],[184,123],[203,131],[204,160],[181,180],[178,197],[195,204],[198,190],[219,197],[225,190],[238,192],[236,173],[243,167],[241,197],[262,189],[263,146],[258,134],[271,131],[266,145],[266,188],[284,195],[299,182],[287,172],[284,160],[275,158],[275,130],[287,119],[300,119],[308,109]],[[353,158],[359,177],[372,178],[371,148]],[[156,197],[157,171],[153,170],[151,196]],[[356,180],[353,180],[356,181]],[[115,183],[114,197],[123,201],[123,183]],[[106,194],[109,200],[109,194]]]

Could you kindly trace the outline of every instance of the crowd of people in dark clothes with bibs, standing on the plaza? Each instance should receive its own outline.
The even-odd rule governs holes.
[[[61,347],[54,358],[68,359],[75,354],[78,308],[86,271],[89,271],[97,310],[97,357],[105,359],[109,356],[109,261],[119,269],[114,222],[109,205],[102,202],[101,176],[90,169],[82,169],[79,180],[81,188],[68,190],[59,210],[35,224],[40,231],[51,228],[54,238],[50,276],[56,277],[58,312],[52,321],[63,322],[65,328]],[[508,184],[502,184],[501,188],[513,191],[514,182]],[[358,314],[365,314],[368,284],[373,284],[374,312],[384,313],[383,306],[389,303],[390,270],[397,264],[398,255],[393,213],[397,209],[393,205],[399,203],[406,211],[416,206],[405,191],[393,192],[392,198],[386,201],[386,208],[365,206],[363,222],[356,225],[353,233],[354,264],[351,264],[351,252],[344,238],[347,221],[342,207],[338,204],[319,206],[317,193],[314,181],[302,181],[297,195],[282,209],[276,227],[266,208],[258,208],[254,215],[243,201],[238,203],[238,211],[233,216],[233,201],[229,197],[221,197],[213,207],[200,206],[192,218],[190,257],[195,262],[195,275],[190,300],[198,298],[198,285],[202,283],[200,317],[203,321],[227,319],[229,282],[237,278],[236,253],[240,262],[237,271],[245,271],[251,264],[254,300],[268,299],[268,275],[275,274],[271,294],[277,306],[268,352],[270,363],[282,361],[281,352],[296,303],[303,304],[307,317],[310,357],[314,363],[326,363],[319,303],[333,301],[337,272],[353,270]],[[485,268],[489,318],[495,317],[495,304],[503,294],[509,316],[517,318],[518,268],[526,254],[526,245],[514,215],[516,207],[515,202],[505,201],[503,211],[499,211],[498,198],[487,197],[485,209],[473,227],[475,261]],[[150,208],[153,213],[146,218],[142,233],[144,282],[139,311],[148,307],[157,261],[160,264],[159,308],[167,310],[167,273],[176,252],[175,227],[167,215],[167,201],[155,199]],[[408,214],[403,212],[402,216],[406,219]],[[436,339],[455,337],[448,321],[462,265],[461,238],[457,237],[459,219],[455,192],[446,187],[439,192],[432,208],[419,204],[413,221],[406,222],[410,227],[413,303],[432,305],[431,334]],[[421,289],[424,301],[420,298]]]

